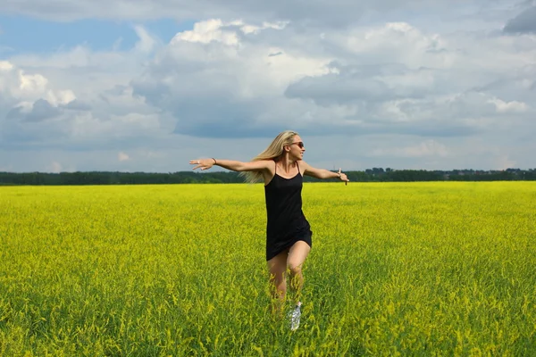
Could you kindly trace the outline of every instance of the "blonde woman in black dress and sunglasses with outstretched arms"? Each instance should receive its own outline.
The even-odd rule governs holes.
[[[303,175],[317,179],[341,179],[348,182],[340,172],[315,169],[303,161],[305,145],[295,131],[283,131],[264,152],[251,162],[222,159],[192,160],[194,170],[208,170],[214,165],[240,171],[249,182],[264,181],[266,201],[266,261],[270,270],[273,297],[281,312],[287,293],[287,271],[290,289],[295,293],[296,307],[290,313],[291,329],[299,326],[299,294],[304,283],[302,265],[311,250],[313,232],[302,212],[301,191]]]

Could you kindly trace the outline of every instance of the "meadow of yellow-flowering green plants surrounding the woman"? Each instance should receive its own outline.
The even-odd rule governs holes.
[[[2,356],[536,355],[536,185],[306,183],[301,326],[262,185],[0,187]]]

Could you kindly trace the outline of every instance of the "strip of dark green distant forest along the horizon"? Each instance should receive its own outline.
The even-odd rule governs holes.
[[[535,180],[536,169],[521,170],[392,170],[373,168],[364,171],[345,171],[350,182],[412,182],[412,181],[514,181]],[[318,179],[304,178],[305,182]],[[331,179],[329,181],[337,181]],[[201,184],[243,183],[244,178],[233,171],[169,173],[151,172],[0,172],[0,185],[144,185],[144,184]]]

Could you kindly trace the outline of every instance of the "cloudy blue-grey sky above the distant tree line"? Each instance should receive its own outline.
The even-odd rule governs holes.
[[[536,168],[536,0],[0,0],[0,171]]]

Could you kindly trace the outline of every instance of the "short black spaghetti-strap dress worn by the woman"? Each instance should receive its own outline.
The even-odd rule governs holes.
[[[313,232],[302,211],[303,177],[297,166],[297,175],[292,179],[277,174],[264,186],[266,198],[266,261],[303,240],[313,246]]]

